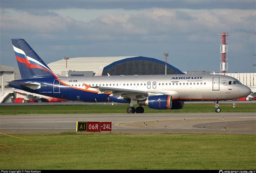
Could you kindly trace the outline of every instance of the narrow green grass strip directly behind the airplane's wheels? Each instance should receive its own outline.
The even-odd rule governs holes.
[[[0,115],[19,114],[102,114],[126,113],[129,105],[25,105],[25,106],[0,106]],[[187,103],[183,109],[156,110],[144,106],[145,113],[199,113],[214,112],[214,103]],[[221,112],[256,112],[256,103],[237,103],[233,108],[232,103],[220,104]]]

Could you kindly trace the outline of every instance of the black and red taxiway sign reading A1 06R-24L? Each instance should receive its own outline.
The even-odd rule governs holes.
[[[112,122],[77,121],[77,132],[111,131]]]

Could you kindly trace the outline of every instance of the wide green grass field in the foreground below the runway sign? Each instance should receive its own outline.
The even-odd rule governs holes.
[[[256,169],[255,135],[68,132],[15,137],[21,139],[0,134],[0,169]]]

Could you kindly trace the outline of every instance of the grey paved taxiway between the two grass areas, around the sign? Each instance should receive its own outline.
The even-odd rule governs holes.
[[[8,115],[0,133],[76,132],[76,121],[111,121],[114,133],[256,134],[255,113]]]

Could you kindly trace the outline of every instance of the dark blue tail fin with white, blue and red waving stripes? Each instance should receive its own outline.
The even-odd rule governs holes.
[[[24,39],[11,39],[22,79],[56,77]]]

